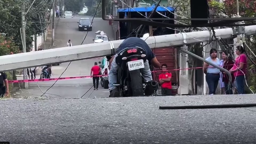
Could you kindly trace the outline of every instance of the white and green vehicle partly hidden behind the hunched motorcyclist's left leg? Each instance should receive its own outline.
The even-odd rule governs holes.
[[[108,89],[109,88],[109,76],[108,76],[109,61],[107,61],[106,57],[103,57],[102,61],[99,63],[101,63],[101,65],[99,65],[99,67],[101,67],[101,73],[102,73],[102,75],[104,75],[101,77],[101,86],[104,87],[104,89]]]

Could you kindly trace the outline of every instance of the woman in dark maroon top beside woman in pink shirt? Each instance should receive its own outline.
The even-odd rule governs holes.
[[[223,68],[226,70],[230,70],[234,65],[233,60],[227,57],[224,51],[222,51],[222,58],[224,60]],[[229,86],[229,75],[227,75],[224,71],[222,71],[222,74],[223,74],[222,81],[224,82],[224,85],[225,85],[226,94],[233,94],[232,85]],[[235,77],[233,74],[231,74],[231,77],[232,77],[231,83],[233,83],[235,80]]]

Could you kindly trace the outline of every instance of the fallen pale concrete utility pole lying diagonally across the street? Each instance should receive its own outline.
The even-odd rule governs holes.
[[[256,33],[255,29],[256,25],[246,26],[246,36],[254,35]],[[233,34],[232,28],[215,30],[215,35],[216,37],[221,37],[223,39],[236,37],[236,35]],[[150,46],[151,49],[154,49],[159,47],[182,46],[184,44],[188,45],[191,43],[198,43],[200,41],[208,41],[209,37],[209,31],[197,31],[186,34],[178,33],[152,36],[147,39],[142,39],[146,39],[145,42]],[[4,55],[0,57],[0,72],[111,55],[122,41],[123,40],[91,43],[29,53]]]

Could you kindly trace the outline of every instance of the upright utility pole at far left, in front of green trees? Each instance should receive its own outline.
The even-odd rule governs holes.
[[[23,44],[23,53],[26,53],[26,21],[25,21],[25,3],[22,3],[21,6],[21,24],[22,24],[22,44]],[[27,79],[27,69],[23,69],[23,80]],[[27,89],[28,83],[27,82],[23,82],[23,88]]]

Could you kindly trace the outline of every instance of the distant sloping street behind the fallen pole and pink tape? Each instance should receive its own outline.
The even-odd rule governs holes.
[[[53,48],[66,47],[66,43],[70,39],[72,45],[81,45],[83,39],[85,38],[87,31],[78,31],[78,21],[80,17],[77,15],[74,18],[60,18],[56,23],[55,28],[55,45]],[[92,21],[92,17],[90,17]],[[114,33],[112,27],[109,25],[108,21],[103,21],[102,18],[93,19],[93,30],[89,31],[83,44],[93,43],[95,38],[95,32],[101,30],[104,31],[110,38],[114,40]],[[51,37],[51,35],[48,35]],[[47,39],[48,40],[48,39]],[[51,39],[49,39],[51,41]],[[58,78],[62,73],[62,77],[75,77],[75,76],[87,76],[90,75],[91,67],[94,65],[94,62],[101,61],[101,58],[98,59],[86,59],[81,61],[71,62],[67,70],[67,63],[61,63],[59,66],[52,67],[53,77]],[[37,78],[40,77],[41,70],[39,69]],[[20,77],[22,79],[22,77]],[[53,85],[55,81],[48,82],[38,82],[29,83],[29,89],[22,89],[15,94],[17,97],[40,97],[50,86]],[[83,79],[70,79],[70,80],[59,80],[55,85],[47,91],[46,96],[51,98],[81,98],[83,94],[86,93],[93,86],[91,78]],[[42,90],[40,90],[40,89]],[[83,96],[83,98],[89,97],[108,97],[109,90],[101,87],[99,83],[99,90],[93,90],[93,87]]]

